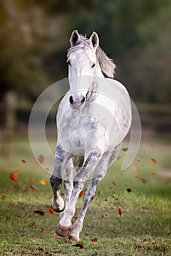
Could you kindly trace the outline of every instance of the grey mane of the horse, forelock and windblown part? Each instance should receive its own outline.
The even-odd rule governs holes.
[[[84,37],[83,35],[80,35],[79,42],[77,42],[75,45],[72,45],[67,50],[67,57],[69,57],[70,53],[73,51],[84,47],[92,48],[92,45],[86,36]],[[109,78],[114,78],[115,64],[113,63],[112,59],[107,57],[106,53],[104,53],[104,51],[99,46],[96,48],[96,59],[99,61],[99,66],[102,72],[104,72]]]

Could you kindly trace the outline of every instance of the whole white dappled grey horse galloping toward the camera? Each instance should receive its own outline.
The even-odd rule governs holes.
[[[70,89],[61,100],[56,118],[58,140],[50,177],[51,206],[60,213],[56,233],[80,241],[83,220],[96,186],[131,127],[132,107],[126,88],[113,79],[115,64],[100,48],[96,32],[87,38],[73,31],[66,62]],[[107,94],[111,88],[115,90],[115,100]],[[82,208],[72,224],[77,198],[88,178]],[[60,196],[63,179],[64,199]]]

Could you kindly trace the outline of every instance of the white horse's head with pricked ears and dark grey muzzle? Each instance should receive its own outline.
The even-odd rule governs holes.
[[[69,103],[72,108],[81,108],[88,98],[89,89],[94,81],[97,71],[101,72],[99,62],[96,59],[96,48],[99,46],[99,37],[96,32],[87,39],[72,32],[70,38],[67,63],[69,65]],[[101,75],[100,75],[101,76]]]

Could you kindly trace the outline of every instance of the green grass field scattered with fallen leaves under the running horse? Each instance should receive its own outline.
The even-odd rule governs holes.
[[[11,140],[0,159],[0,197],[6,196],[0,198],[0,255],[170,255],[171,186],[169,176],[162,176],[163,170],[170,171],[170,143],[156,138],[148,143],[142,140],[137,158],[121,172],[124,154],[121,150],[121,159],[99,183],[86,214],[80,249],[54,232],[59,217],[48,211],[50,175],[37,164],[28,140]],[[14,170],[19,171],[18,179],[11,181],[9,173]],[[42,178],[46,178],[45,185],[40,184]],[[127,192],[128,188],[132,192]],[[82,200],[77,201],[77,214]],[[35,214],[35,210],[44,215]],[[93,242],[93,238],[98,239]]]

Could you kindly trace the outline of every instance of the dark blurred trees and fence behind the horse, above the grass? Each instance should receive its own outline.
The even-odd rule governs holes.
[[[99,34],[117,64],[115,79],[140,111],[143,132],[170,140],[170,0],[1,0],[0,21],[1,145],[11,135],[28,135],[35,100],[66,78],[75,29],[87,37]]]

